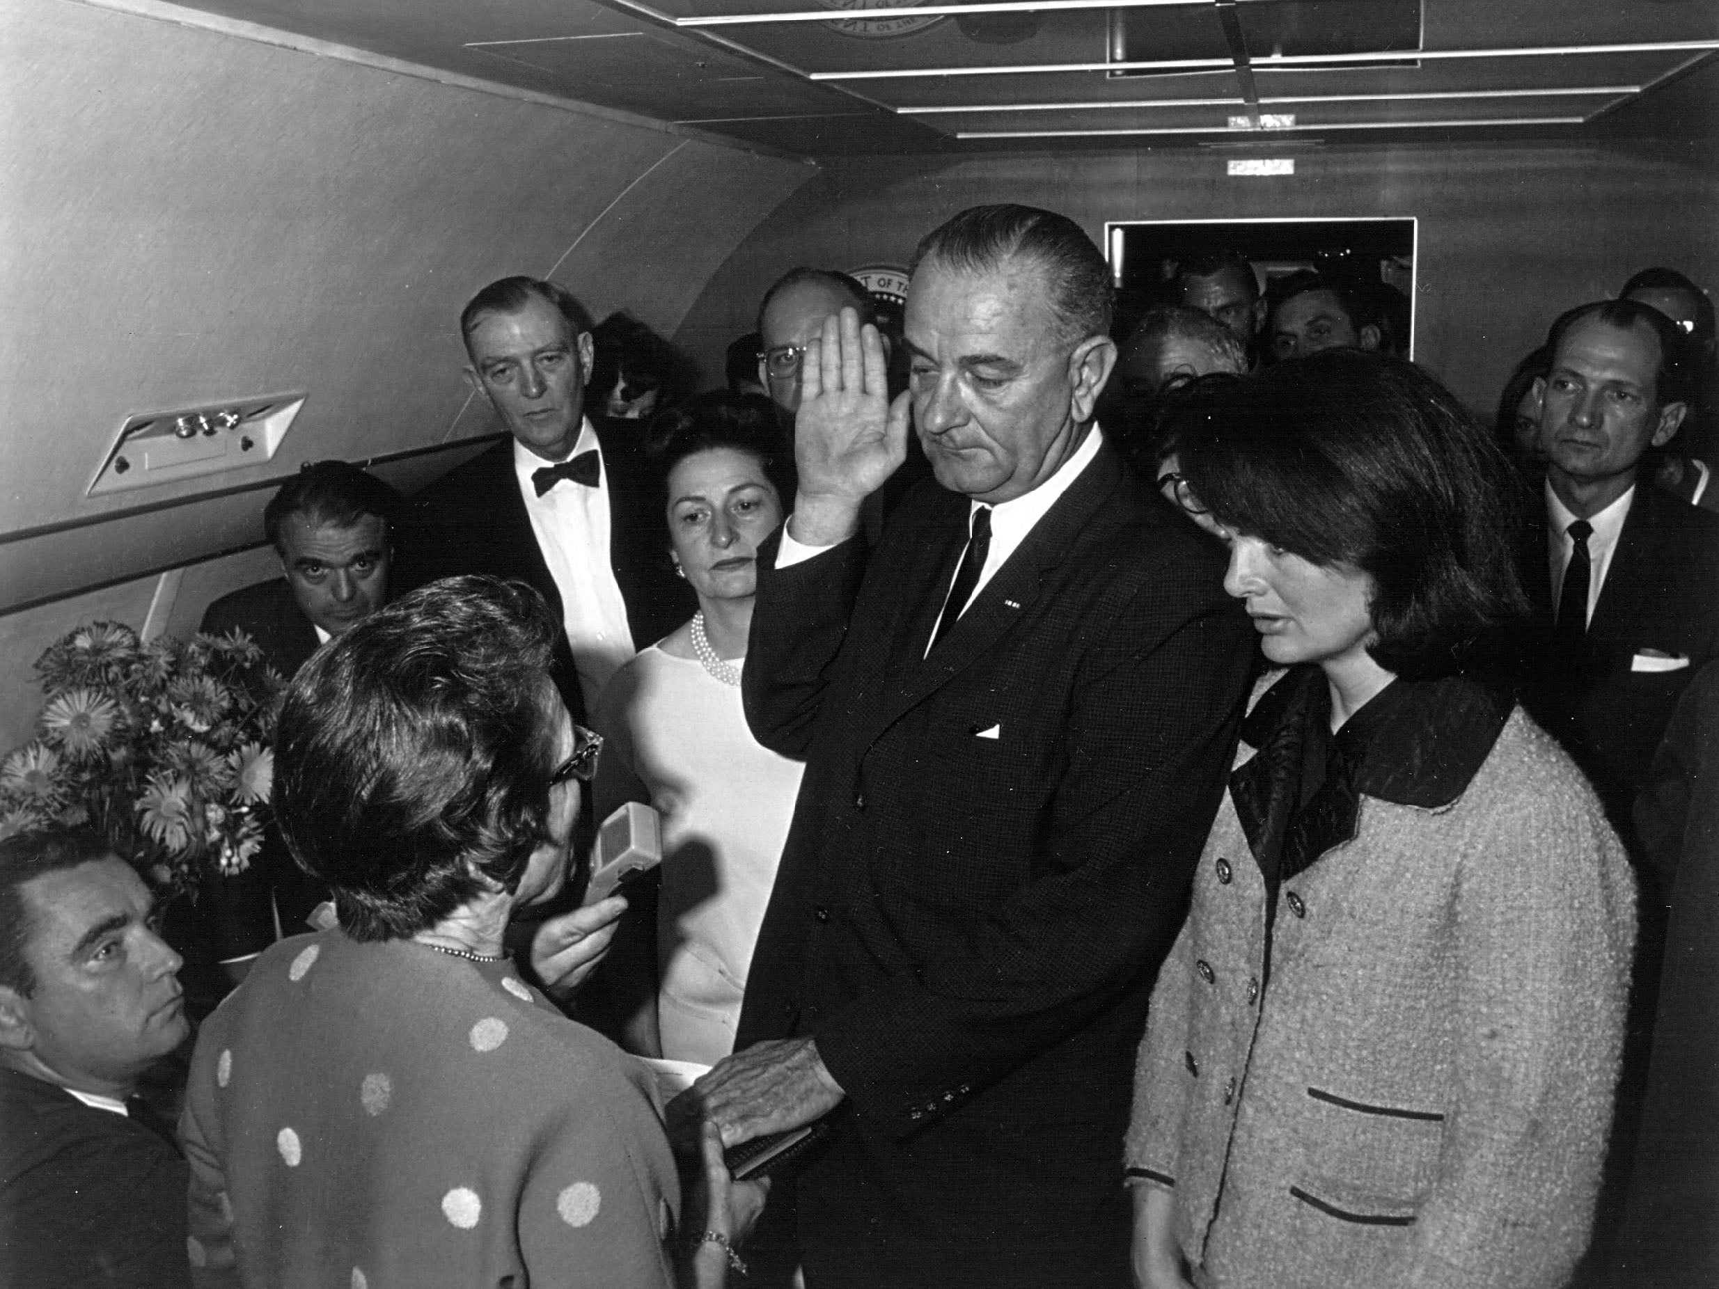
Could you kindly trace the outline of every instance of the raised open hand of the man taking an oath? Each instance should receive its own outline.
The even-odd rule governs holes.
[[[792,538],[829,547],[851,536],[860,504],[906,455],[908,394],[889,402],[889,364],[877,328],[861,327],[851,308],[825,318],[801,363]]]

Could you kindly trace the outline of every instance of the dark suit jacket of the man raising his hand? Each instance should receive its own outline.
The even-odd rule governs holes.
[[[813,1035],[847,1093],[813,1282],[1126,1284],[1135,1048],[1253,632],[1104,449],[921,658],[966,516],[927,481],[870,553],[760,572],[748,718],[806,777],[739,1045]]]

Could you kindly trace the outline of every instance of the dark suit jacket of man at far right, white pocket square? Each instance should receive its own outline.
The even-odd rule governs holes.
[[[1523,705],[1556,734],[1599,789],[1626,837],[1630,804],[1685,687],[1719,657],[1719,516],[1645,480],[1624,519],[1580,650],[1552,636],[1552,579],[1540,524],[1521,552],[1535,629],[1521,660]],[[1642,650],[1688,658],[1667,672],[1635,670]]]

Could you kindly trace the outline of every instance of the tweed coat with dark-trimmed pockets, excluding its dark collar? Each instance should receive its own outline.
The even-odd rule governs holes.
[[[1451,804],[1363,794],[1353,839],[1286,875],[1270,935],[1226,792],[1126,1145],[1141,1184],[1172,1188],[1195,1284],[1563,1286],[1599,1189],[1633,914],[1599,801],[1520,710]]]

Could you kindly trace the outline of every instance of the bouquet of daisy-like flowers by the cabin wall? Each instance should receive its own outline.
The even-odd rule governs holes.
[[[160,887],[244,871],[270,820],[285,682],[242,632],[148,644],[91,622],[36,662],[38,736],[0,761],[0,837],[89,825]]]

